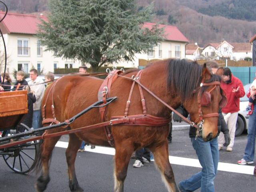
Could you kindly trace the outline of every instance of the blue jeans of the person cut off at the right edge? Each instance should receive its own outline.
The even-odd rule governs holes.
[[[249,116],[247,144],[244,150],[243,159],[246,161],[254,160],[255,136],[256,136],[256,104],[254,104],[253,112]]]

